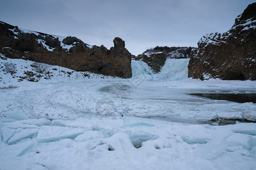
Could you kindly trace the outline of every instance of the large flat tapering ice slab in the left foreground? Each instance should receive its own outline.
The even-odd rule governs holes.
[[[82,128],[42,126],[38,132],[38,142],[58,141],[63,138],[76,138],[85,132]]]

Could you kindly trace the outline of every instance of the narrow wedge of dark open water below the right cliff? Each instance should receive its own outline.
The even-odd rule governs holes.
[[[256,103],[256,94],[190,94],[193,96],[206,97],[213,100],[228,100],[237,103]]]

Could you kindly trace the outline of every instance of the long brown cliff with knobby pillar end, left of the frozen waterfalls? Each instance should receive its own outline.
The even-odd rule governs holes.
[[[52,36],[0,22],[0,53],[9,58],[59,65],[75,71],[131,77],[131,53],[116,37],[114,47],[91,46],[76,37]]]

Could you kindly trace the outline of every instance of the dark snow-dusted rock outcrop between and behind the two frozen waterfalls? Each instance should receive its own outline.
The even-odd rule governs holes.
[[[167,58],[190,58],[192,49],[192,47],[156,46],[133,58],[146,62],[154,73],[159,73]]]

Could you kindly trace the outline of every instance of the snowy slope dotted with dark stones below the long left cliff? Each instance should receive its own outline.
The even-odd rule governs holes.
[[[14,74],[6,70],[5,63],[13,63],[16,67]],[[82,79],[112,79],[112,76],[105,76],[100,74],[93,74],[89,72],[79,72],[60,66],[47,66],[44,73],[39,73],[33,66],[35,62],[24,59],[11,59],[0,54],[0,87],[7,86],[20,86],[21,84],[27,84],[28,80],[32,79],[32,82],[58,82],[58,81],[70,81],[70,80],[82,80]],[[27,73],[27,74],[26,74]],[[32,73],[28,75],[28,73]]]

